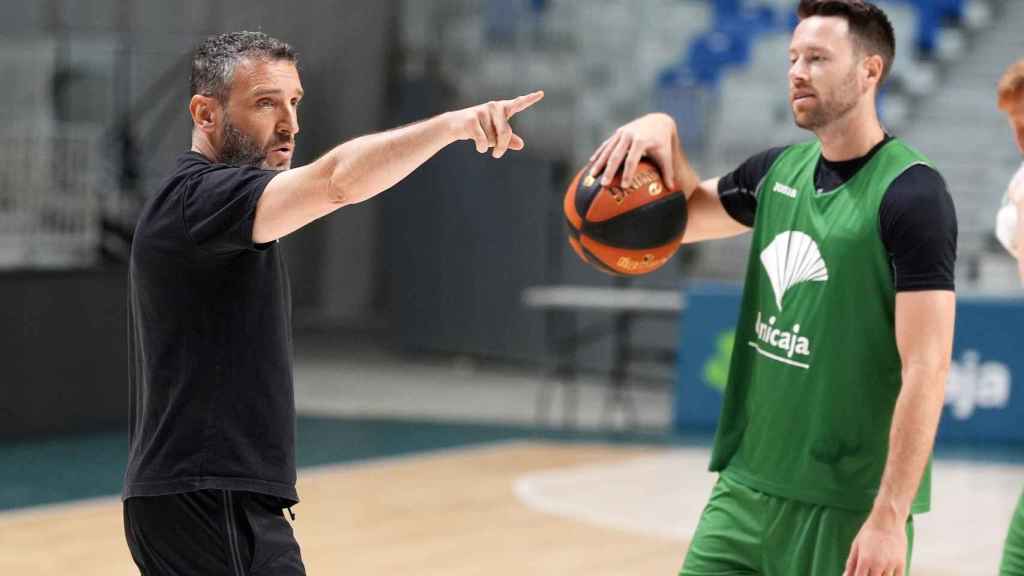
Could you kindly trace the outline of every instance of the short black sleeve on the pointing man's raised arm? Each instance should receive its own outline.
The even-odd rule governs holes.
[[[279,172],[215,164],[193,176],[184,194],[184,223],[200,248],[217,254],[258,248],[256,203]]]

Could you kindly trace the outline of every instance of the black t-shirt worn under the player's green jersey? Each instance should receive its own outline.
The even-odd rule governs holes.
[[[814,170],[818,192],[835,190],[852,178],[890,139],[886,136],[853,160],[829,162],[822,157]],[[722,206],[736,221],[754,225],[761,180],[784,150],[773,148],[752,156],[719,180]],[[914,165],[893,180],[879,208],[879,233],[889,252],[896,291],[953,290],[956,212],[946,182],[934,168]]]

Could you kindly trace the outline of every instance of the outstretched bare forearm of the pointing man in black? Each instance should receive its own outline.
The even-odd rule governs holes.
[[[398,183],[455,139],[449,115],[441,114],[348,140],[316,162],[330,172],[332,197],[355,204]]]

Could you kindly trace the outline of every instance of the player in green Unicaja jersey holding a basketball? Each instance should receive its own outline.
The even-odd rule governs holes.
[[[718,483],[681,574],[909,573],[913,513],[952,347],[956,219],[942,177],[886,133],[886,14],[803,0],[790,44],[796,123],[813,140],[699,181],[673,120],[615,131],[591,173],[648,156],[688,195],[683,242],[753,229],[712,453]]]

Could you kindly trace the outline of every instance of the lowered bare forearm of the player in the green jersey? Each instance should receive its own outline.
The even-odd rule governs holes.
[[[948,370],[924,365],[903,368],[889,434],[889,456],[871,516],[906,522],[925,466],[932,454],[942,414]]]

